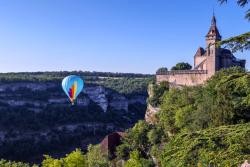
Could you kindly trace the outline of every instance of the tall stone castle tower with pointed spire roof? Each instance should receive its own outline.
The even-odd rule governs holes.
[[[216,26],[216,18],[213,14],[210,29],[206,35],[206,56],[207,56],[207,72],[208,77],[214,75],[219,69],[219,49],[216,47],[216,42],[221,40],[221,35]]]

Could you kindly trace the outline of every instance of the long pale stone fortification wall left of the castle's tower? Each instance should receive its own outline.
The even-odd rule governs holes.
[[[203,84],[209,76],[207,71],[170,71],[165,74],[156,74],[156,81],[160,83],[162,81],[168,81],[174,85],[186,85],[186,86],[195,86]]]

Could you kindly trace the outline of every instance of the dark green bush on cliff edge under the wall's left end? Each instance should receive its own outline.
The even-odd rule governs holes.
[[[148,103],[154,107],[157,107],[162,102],[163,94],[169,90],[169,83],[161,82],[159,85],[153,84],[151,89],[152,95],[148,98]]]

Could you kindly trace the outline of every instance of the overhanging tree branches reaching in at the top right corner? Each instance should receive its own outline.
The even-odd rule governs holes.
[[[227,0],[218,0],[221,4],[226,3]],[[237,4],[240,7],[246,7],[249,3],[249,0],[237,0]],[[245,18],[250,21],[250,9],[247,10]],[[226,40],[220,41],[216,44],[217,46],[224,45],[227,48],[230,48],[232,52],[244,51],[250,49],[250,32],[243,33],[241,35],[228,38]]]

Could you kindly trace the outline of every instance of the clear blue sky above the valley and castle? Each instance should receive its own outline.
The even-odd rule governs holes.
[[[0,72],[154,73],[193,64],[213,6],[223,38],[249,31],[235,0],[0,0]],[[250,68],[250,52],[236,55]]]

